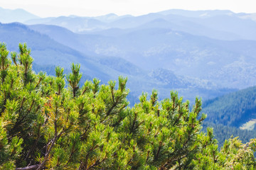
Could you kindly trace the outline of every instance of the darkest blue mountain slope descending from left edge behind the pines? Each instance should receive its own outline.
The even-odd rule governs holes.
[[[72,62],[82,65],[82,72],[90,77],[100,77],[103,80],[110,79],[102,65],[90,60],[89,57],[70,47],[62,45],[21,23],[0,24],[1,42],[6,42],[10,51],[18,51],[18,43],[26,42],[31,47],[31,55],[34,62],[39,65],[60,65],[70,68]]]

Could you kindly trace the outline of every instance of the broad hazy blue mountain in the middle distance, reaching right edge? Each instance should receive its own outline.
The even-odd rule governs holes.
[[[48,25],[29,28],[90,56],[122,57],[147,72],[168,69],[183,77],[206,79],[234,89],[253,86],[256,81],[253,40],[215,40],[154,27],[99,34],[78,34]]]

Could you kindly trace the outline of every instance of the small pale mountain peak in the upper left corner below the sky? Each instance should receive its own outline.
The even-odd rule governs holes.
[[[0,22],[12,23],[12,22],[25,22],[31,19],[38,19],[40,17],[33,15],[21,8],[18,9],[6,9],[0,7]]]

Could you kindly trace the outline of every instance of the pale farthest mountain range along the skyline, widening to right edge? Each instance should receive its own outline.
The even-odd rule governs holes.
[[[219,40],[256,40],[255,18],[253,13],[233,13],[225,10],[169,10],[143,16],[117,16],[110,13],[98,17],[38,18],[25,23],[62,26],[75,33],[97,31],[98,34],[108,29],[170,28]]]

